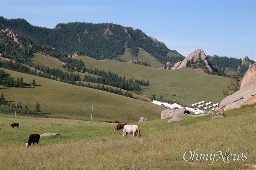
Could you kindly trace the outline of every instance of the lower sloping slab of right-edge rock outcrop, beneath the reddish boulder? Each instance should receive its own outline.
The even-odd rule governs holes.
[[[248,71],[247,71],[248,72]],[[247,73],[246,72],[246,73]],[[249,74],[249,73],[248,73]],[[239,91],[227,96],[220,102],[220,111],[228,111],[233,108],[240,108],[241,105],[250,105],[256,102],[256,77],[254,76],[250,82],[245,84]]]

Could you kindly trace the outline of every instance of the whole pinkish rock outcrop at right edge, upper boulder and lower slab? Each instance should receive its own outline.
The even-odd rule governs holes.
[[[220,102],[221,111],[228,111],[233,108],[240,108],[241,105],[250,105],[256,102],[256,63],[253,64],[244,74],[241,88],[234,94],[227,96]]]

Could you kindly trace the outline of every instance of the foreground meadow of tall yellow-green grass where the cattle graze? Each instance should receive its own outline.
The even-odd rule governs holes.
[[[122,139],[115,124],[22,127],[0,125],[0,136],[9,134],[12,141],[0,139],[0,169],[246,169],[256,159],[256,108],[243,107],[225,112],[221,119],[213,115],[189,117],[166,124],[167,119],[135,123],[142,136]],[[10,119],[9,117],[1,117]],[[29,119],[28,119],[29,121]],[[61,136],[42,137],[38,146],[26,148],[23,139],[28,131],[55,132]],[[54,131],[53,131],[54,130]],[[8,138],[8,137],[6,137]],[[17,142],[18,141],[18,142]],[[190,150],[198,153],[247,153],[245,161],[184,161]],[[208,166],[207,164],[212,164]]]

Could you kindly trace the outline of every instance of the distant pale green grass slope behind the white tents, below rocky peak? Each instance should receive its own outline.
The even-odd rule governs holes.
[[[157,98],[163,95],[163,99],[176,99],[185,105],[202,100],[219,103],[224,96],[220,90],[226,89],[230,78],[206,74],[200,68],[182,68],[166,70],[151,68],[131,62],[118,62],[114,60],[96,60],[87,56],[78,56],[87,68],[99,68],[111,71],[126,79],[149,80],[150,86],[143,89],[142,95],[151,98],[154,94]]]

